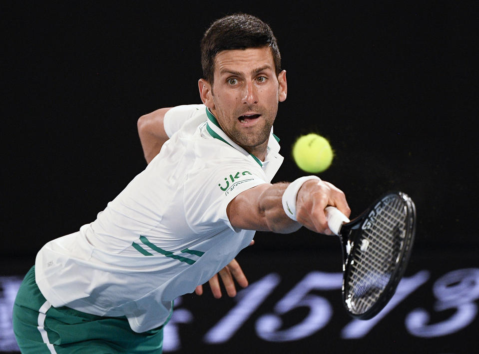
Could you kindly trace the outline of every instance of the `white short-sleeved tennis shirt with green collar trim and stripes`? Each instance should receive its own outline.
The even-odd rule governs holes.
[[[35,262],[52,306],[126,316],[135,332],[161,326],[172,301],[206,283],[249,245],[226,206],[269,183],[283,162],[271,133],[265,161],[234,143],[204,105],[165,115],[170,139],[144,171],[78,232],[48,242]]]

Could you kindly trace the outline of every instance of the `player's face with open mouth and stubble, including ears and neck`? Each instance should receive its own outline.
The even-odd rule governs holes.
[[[203,87],[208,85],[204,99]],[[286,71],[275,73],[269,47],[224,50],[215,58],[213,86],[200,80],[203,102],[223,131],[260,159],[266,155],[278,102],[286,99]]]

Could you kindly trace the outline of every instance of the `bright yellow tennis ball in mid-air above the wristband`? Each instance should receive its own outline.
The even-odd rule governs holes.
[[[299,137],[293,145],[293,158],[305,172],[325,171],[333,161],[333,150],[329,141],[321,135],[310,133]]]

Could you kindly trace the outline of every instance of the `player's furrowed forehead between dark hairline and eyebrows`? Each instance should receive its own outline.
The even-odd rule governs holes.
[[[223,50],[215,57],[215,76],[227,71],[249,73],[267,66],[274,71],[273,51],[270,47]]]

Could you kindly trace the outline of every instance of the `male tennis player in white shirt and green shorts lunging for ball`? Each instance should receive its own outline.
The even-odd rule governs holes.
[[[287,94],[270,27],[226,16],[201,46],[203,104],[141,117],[147,168],[94,222],[39,251],[14,306],[24,353],[161,353],[175,298],[209,279],[219,295],[220,271],[230,295],[233,277],[247,284],[234,257],[255,230],[330,234],[326,206],[349,216],[344,194],[315,176],[270,183]]]

